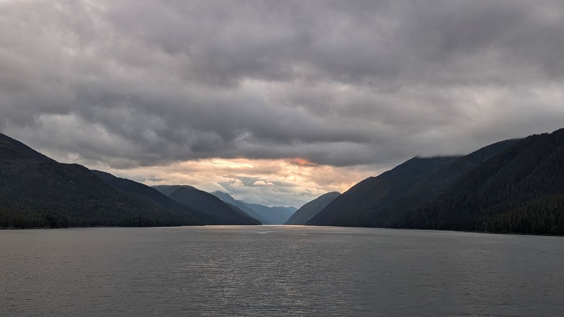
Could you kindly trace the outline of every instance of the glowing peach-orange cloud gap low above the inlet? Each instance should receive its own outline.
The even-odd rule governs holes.
[[[152,185],[190,184],[201,190],[221,190],[236,199],[266,205],[301,206],[325,192],[343,192],[383,170],[374,166],[335,167],[296,164],[296,160],[232,160],[209,158],[163,166],[112,169],[90,166]]]

